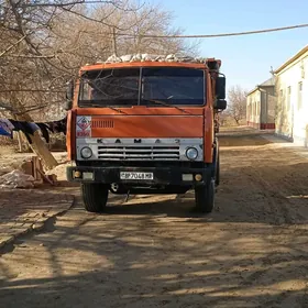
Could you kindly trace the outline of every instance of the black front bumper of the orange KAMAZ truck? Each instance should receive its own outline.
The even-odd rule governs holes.
[[[76,177],[76,172],[78,177]],[[121,172],[153,173],[153,179],[121,179]],[[195,175],[201,175],[200,180]],[[191,179],[183,178],[191,175]],[[211,178],[210,168],[183,168],[183,167],[67,167],[67,180],[75,183],[102,183],[125,185],[205,185]]]

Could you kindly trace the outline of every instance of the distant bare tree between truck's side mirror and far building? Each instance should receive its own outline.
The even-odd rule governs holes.
[[[227,113],[234,119],[238,125],[246,117],[246,95],[248,91],[239,85],[231,87],[228,91]]]

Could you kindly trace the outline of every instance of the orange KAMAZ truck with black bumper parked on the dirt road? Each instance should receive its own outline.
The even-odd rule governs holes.
[[[67,179],[87,211],[112,194],[185,194],[211,212],[219,185],[217,114],[227,108],[221,61],[96,63],[68,84]]]

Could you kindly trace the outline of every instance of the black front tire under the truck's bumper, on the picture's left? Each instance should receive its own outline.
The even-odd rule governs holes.
[[[108,191],[103,184],[81,184],[85,209],[89,212],[102,212],[106,209]]]

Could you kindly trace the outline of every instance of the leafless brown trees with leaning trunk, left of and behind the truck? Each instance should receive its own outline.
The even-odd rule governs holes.
[[[14,119],[62,118],[66,82],[81,65],[106,59],[114,51],[197,51],[197,44],[179,38],[143,37],[182,33],[172,29],[172,14],[160,7],[139,6],[134,0],[97,2],[88,7],[82,0],[0,0],[0,107]],[[33,151],[44,164],[55,166],[40,136],[33,141]]]

